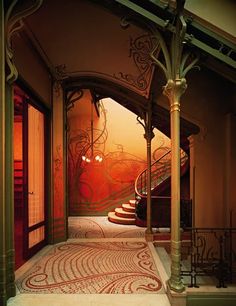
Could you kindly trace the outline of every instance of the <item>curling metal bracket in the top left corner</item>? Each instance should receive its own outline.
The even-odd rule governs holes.
[[[5,15],[5,56],[7,63],[6,81],[12,84],[18,77],[18,72],[13,60],[12,37],[23,27],[22,18],[33,14],[42,5],[43,0],[34,0],[31,5],[24,7],[17,5],[18,0],[13,0]]]

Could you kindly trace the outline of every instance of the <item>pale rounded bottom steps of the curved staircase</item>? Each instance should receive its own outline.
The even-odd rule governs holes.
[[[128,203],[124,203],[121,207],[115,208],[115,211],[108,213],[108,220],[117,224],[135,224],[135,204],[136,200],[129,200]]]

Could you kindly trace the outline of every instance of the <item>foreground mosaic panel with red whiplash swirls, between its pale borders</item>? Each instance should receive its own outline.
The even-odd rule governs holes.
[[[158,293],[146,242],[80,242],[53,247],[17,280],[21,293]]]

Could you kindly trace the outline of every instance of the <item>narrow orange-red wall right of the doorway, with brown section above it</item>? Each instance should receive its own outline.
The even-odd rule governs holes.
[[[25,33],[13,37],[14,61],[19,86],[24,86],[39,104],[48,109],[46,126],[47,167],[46,206],[48,242],[66,239],[64,104],[60,82],[52,80],[49,68],[31,45]],[[51,175],[52,174],[52,175]]]

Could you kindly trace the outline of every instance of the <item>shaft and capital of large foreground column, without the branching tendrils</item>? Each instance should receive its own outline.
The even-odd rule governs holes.
[[[171,277],[169,286],[182,292],[180,241],[180,96],[186,89],[186,80],[169,80],[164,94],[170,100],[171,125]]]

